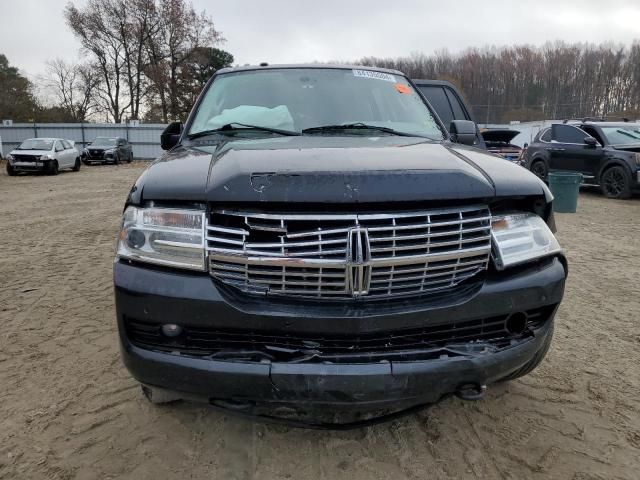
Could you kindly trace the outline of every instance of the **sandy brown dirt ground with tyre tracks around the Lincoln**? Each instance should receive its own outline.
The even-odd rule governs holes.
[[[531,375],[382,425],[325,432],[146,402],[118,353],[114,237],[142,164],[0,173],[1,479],[640,478],[640,199],[583,192]]]

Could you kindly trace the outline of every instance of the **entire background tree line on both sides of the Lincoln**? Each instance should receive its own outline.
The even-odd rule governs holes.
[[[65,8],[81,43],[76,63],[55,59],[39,90],[0,54],[0,117],[81,122],[184,119],[207,80],[233,56],[187,0],[88,0]],[[454,83],[481,123],[582,117],[640,118],[640,42],[548,43],[365,57],[355,63]],[[42,101],[44,90],[53,102]]]

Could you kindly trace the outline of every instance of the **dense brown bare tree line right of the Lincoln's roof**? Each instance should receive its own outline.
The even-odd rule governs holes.
[[[470,48],[356,63],[397,69],[411,78],[448,80],[461,89],[481,123],[640,118],[638,41]]]

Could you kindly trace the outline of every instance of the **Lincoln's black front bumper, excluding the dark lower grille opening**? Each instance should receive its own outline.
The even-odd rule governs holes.
[[[239,404],[330,406],[359,411],[431,403],[461,385],[485,385],[525,365],[552,334],[566,266],[560,257],[489,275],[464,298],[428,304],[393,302],[375,308],[310,307],[234,299],[206,274],[175,273],[124,262],[114,265],[116,310],[125,365],[141,383],[185,397]],[[237,300],[237,301],[236,301]],[[242,300],[242,301],[241,301]],[[549,306],[530,335],[501,348],[442,348],[411,360],[376,358],[347,363],[233,361],[141,348],[127,334],[128,318],[251,332],[362,335],[450,324]],[[479,346],[482,346],[480,344]],[[470,346],[470,345],[467,345]],[[476,345],[478,346],[478,345]],[[454,348],[455,350],[455,348]],[[448,352],[448,353],[447,353]],[[422,356],[421,356],[422,354]],[[424,359],[421,359],[424,358]]]

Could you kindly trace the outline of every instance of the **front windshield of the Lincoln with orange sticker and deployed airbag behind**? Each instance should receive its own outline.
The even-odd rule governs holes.
[[[366,69],[292,68],[220,75],[206,92],[188,133],[237,123],[292,132],[364,124],[443,139],[433,115],[405,77]],[[349,134],[374,134],[360,127]],[[384,133],[375,132],[380,134]]]

